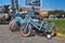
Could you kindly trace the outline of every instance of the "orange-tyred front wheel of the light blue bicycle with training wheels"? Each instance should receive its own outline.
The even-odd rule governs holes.
[[[25,27],[26,27],[26,25],[22,25],[22,26],[20,27],[20,34],[21,34],[22,37],[29,37],[30,33],[31,33],[31,27],[30,27],[30,26],[27,26],[26,31],[24,31],[24,30],[25,30]]]

